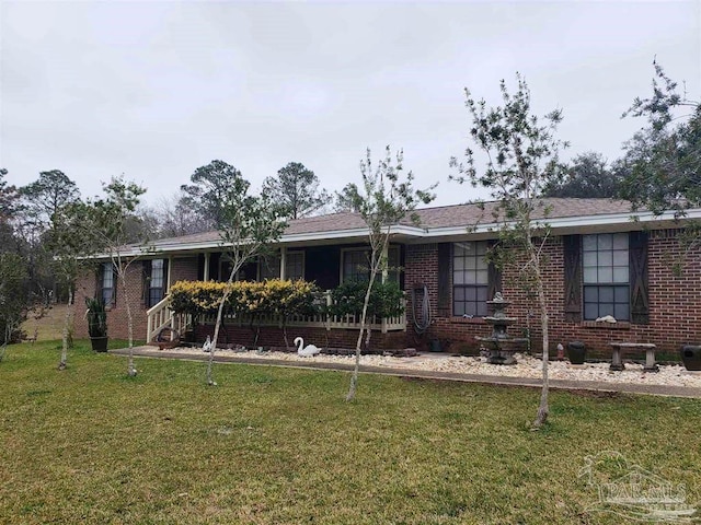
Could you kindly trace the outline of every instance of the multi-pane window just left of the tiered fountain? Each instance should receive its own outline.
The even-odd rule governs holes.
[[[452,315],[483,317],[490,271],[485,259],[486,241],[453,243],[452,245]]]

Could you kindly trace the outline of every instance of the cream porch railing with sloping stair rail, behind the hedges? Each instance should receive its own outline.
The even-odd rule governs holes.
[[[331,305],[331,292],[325,292],[324,301],[327,305]],[[372,330],[380,330],[382,334],[388,331],[406,331],[406,301],[402,301],[402,314],[395,317],[384,317],[382,319],[369,318],[367,326]],[[156,306],[147,311],[148,316],[148,335],[147,341],[154,341],[158,334],[163,328],[172,328],[177,330],[179,334],[183,334],[187,326],[192,324],[189,316],[185,314],[173,314],[169,308],[170,299],[166,296]],[[216,315],[208,315],[200,319],[205,325],[214,325],[216,322]],[[227,315],[225,314],[223,324],[226,326],[249,326],[251,322],[255,326],[277,326],[283,327],[284,319],[280,316],[275,315],[262,315],[252,319],[251,316],[245,315]],[[332,329],[359,329],[360,328],[360,315],[294,315],[287,318],[286,326],[288,327],[309,327],[309,328],[326,328]]]

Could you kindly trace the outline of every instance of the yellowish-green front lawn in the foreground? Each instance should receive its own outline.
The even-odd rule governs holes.
[[[530,389],[363,375],[346,404],[346,373],[217,364],[207,387],[204,363],[127,378],[88,347],[0,362],[0,523],[627,523],[587,510],[601,451],[701,506],[701,400],[556,393],[531,432]]]

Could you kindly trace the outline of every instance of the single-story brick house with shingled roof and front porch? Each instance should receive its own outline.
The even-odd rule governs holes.
[[[545,243],[547,299],[553,348],[579,340],[593,354],[610,355],[609,342],[653,342],[658,351],[677,353],[680,346],[701,343],[701,248],[686,256],[680,273],[674,264],[685,249],[679,240],[683,222],[671,214],[631,212],[625,201],[610,199],[547,199],[551,235]],[[439,340],[452,351],[476,349],[475,336],[489,335],[487,299],[502,291],[512,302],[508,315],[518,322],[509,328],[522,337],[530,330],[539,340],[537,303],[516,283],[515,269],[496,271],[483,256],[498,234],[486,206],[458,205],[418,210],[421,225],[406,220],[392,226],[390,273],[405,291],[406,313],[378,325],[376,348],[426,348]],[[689,211],[700,219],[701,209]],[[632,220],[634,218],[635,220]],[[304,278],[330,290],[358,277],[367,250],[367,228],[357,213],[334,213],[290,221],[278,243],[278,256],[253,261],[239,278]],[[137,246],[130,247],[140,253]],[[149,245],[130,267],[128,294],[137,338],[153,340],[169,323],[168,289],[179,280],[226,280],[228,262],[217,232],[160,240]],[[124,298],[116,289],[110,262],[79,285],[85,296],[102,296],[111,305],[111,337],[126,337]],[[425,308],[424,303],[429,306]],[[616,324],[597,323],[612,315]],[[77,334],[87,335],[78,316]],[[416,329],[416,326],[426,328]],[[427,325],[427,327],[425,326]],[[288,325],[320,347],[352,348],[357,337],[353,323],[320,319]],[[203,330],[210,329],[205,325]],[[226,327],[230,342],[246,345],[245,326]],[[420,334],[423,331],[423,334]],[[203,332],[204,334],[204,332]],[[258,343],[281,346],[277,326],[261,332]]]

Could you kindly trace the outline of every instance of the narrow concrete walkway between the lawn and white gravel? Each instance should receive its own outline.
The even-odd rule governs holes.
[[[128,355],[126,348],[110,350],[114,355]],[[192,354],[180,353],[175,350],[159,350],[156,347],[135,347],[134,355],[157,359],[182,359],[189,361],[207,361],[206,353]],[[411,359],[411,358],[407,358]],[[285,361],[278,359],[255,359],[244,355],[222,355],[215,353],[216,363],[243,363],[258,366],[284,366],[288,369],[309,369],[325,371],[353,371],[353,364],[323,363],[314,361]],[[428,370],[401,369],[389,366],[360,365],[360,372],[365,374],[393,375],[400,377],[415,377],[437,381],[459,381],[463,383],[482,383],[486,385],[508,385],[540,388],[541,381],[531,377],[507,377],[501,375],[460,374],[456,372],[436,372]],[[604,383],[597,381],[566,381],[550,380],[550,387],[558,390],[587,390],[599,393],[647,394],[653,396],[690,397],[701,399],[701,388],[671,385],[642,385],[636,383]]]

